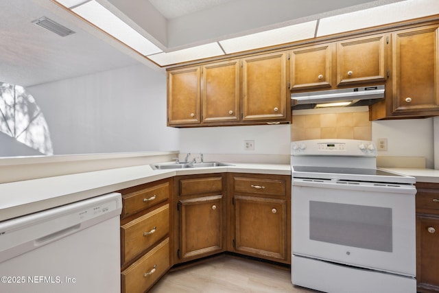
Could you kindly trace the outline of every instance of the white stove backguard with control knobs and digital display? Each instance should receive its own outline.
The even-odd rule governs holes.
[[[293,141],[292,156],[377,156],[377,148],[372,141],[356,139],[311,139]]]

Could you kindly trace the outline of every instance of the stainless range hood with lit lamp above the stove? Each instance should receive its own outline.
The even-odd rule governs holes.
[[[329,106],[368,106],[384,99],[384,91],[385,86],[380,85],[292,93],[291,108],[293,110],[300,110]]]

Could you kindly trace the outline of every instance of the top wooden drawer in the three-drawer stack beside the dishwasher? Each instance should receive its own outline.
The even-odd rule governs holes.
[[[123,196],[122,218],[152,207],[154,204],[163,202],[168,198],[169,183],[126,194]]]

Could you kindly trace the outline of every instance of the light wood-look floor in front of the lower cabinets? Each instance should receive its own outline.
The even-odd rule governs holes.
[[[151,293],[317,293],[292,285],[290,271],[267,263],[224,255],[168,272]]]

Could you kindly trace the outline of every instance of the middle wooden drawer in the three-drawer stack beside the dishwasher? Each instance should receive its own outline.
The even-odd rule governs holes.
[[[130,261],[169,233],[169,204],[121,226],[121,261]]]

